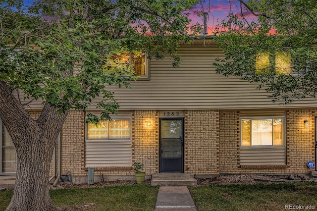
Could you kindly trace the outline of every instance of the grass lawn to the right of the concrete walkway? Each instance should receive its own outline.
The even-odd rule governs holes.
[[[283,211],[285,205],[317,209],[317,183],[213,184],[190,188],[190,193],[198,211]]]

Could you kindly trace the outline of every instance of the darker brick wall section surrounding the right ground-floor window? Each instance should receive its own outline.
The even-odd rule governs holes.
[[[286,111],[285,166],[240,166],[239,112],[220,111],[220,173],[309,173],[307,162],[315,162],[315,112]]]

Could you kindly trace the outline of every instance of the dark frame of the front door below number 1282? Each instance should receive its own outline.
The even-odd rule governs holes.
[[[182,147],[181,147],[181,171],[162,171],[161,168],[161,163],[162,163],[162,158],[161,158],[161,120],[181,120],[182,122],[182,134],[181,134],[181,139],[182,139]],[[185,150],[185,139],[184,139],[184,117],[177,117],[177,118],[159,118],[159,173],[184,173],[184,166],[185,166],[185,158],[184,158],[184,150]]]

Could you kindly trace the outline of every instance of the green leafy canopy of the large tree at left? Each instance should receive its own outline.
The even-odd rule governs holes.
[[[196,0],[1,0],[0,80],[60,113],[118,105],[109,86],[131,87],[133,66],[114,55],[143,50],[175,58]]]

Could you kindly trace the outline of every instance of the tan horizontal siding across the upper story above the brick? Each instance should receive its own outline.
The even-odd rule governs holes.
[[[272,103],[265,90],[240,77],[216,74],[213,63],[223,57],[213,40],[193,41],[181,46],[180,67],[172,67],[172,59],[150,60],[150,80],[132,81],[133,89],[108,86],[114,92],[120,110],[195,110],[195,109],[287,109],[317,107],[315,99],[303,99],[288,105]],[[181,43],[182,44],[182,43]],[[98,98],[96,99],[96,101]],[[41,108],[33,101],[32,108]],[[88,109],[96,109],[89,106]]]

